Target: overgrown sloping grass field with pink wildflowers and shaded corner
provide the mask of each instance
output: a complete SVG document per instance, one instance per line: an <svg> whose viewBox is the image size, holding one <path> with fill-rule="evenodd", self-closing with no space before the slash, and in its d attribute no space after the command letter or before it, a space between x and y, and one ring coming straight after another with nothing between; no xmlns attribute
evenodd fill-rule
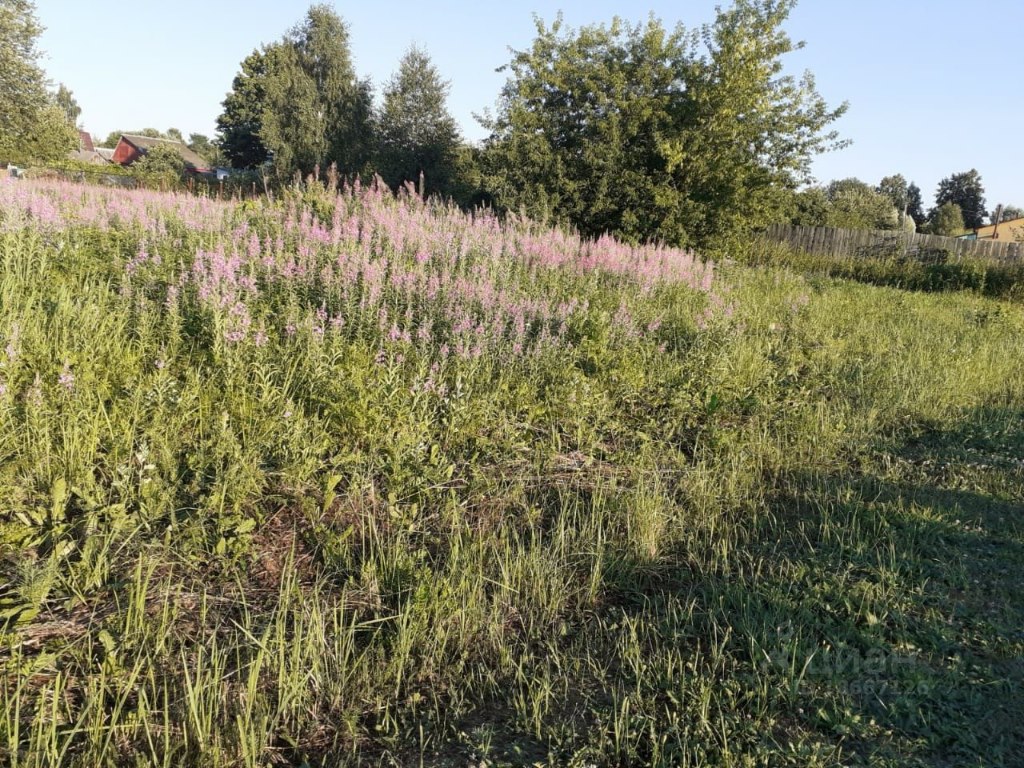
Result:
<svg viewBox="0 0 1024 768"><path fill-rule="evenodd" d="M1012 766L1024 308L0 183L0 763Z"/></svg>

